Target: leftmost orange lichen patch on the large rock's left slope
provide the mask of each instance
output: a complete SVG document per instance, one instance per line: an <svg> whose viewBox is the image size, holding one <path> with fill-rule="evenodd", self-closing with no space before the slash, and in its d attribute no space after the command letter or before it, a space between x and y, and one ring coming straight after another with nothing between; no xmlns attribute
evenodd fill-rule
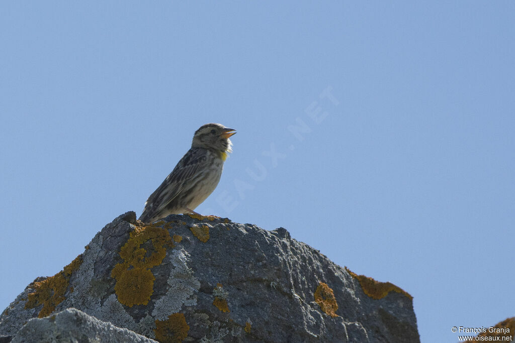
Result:
<svg viewBox="0 0 515 343"><path fill-rule="evenodd" d="M70 284L70 277L79 268L81 263L82 255L79 255L72 263L65 266L61 272L43 281L34 282L32 287L35 290L29 293L25 309L33 309L42 304L43 308L38 313L39 318L46 317L54 312L56 306L65 299L64 294Z"/></svg>

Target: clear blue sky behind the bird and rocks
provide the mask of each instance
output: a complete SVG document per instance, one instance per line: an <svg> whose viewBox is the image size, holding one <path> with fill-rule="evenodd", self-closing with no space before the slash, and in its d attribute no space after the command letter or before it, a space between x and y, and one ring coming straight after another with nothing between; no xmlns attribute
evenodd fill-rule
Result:
<svg viewBox="0 0 515 343"><path fill-rule="evenodd" d="M3 2L0 311L139 215L200 125L197 210L414 296L422 342L515 315L515 3Z"/></svg>

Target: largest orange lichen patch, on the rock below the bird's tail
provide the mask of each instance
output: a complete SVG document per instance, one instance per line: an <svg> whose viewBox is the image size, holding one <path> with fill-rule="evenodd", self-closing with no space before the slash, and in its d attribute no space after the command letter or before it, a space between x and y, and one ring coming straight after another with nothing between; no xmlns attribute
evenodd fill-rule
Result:
<svg viewBox="0 0 515 343"><path fill-rule="evenodd" d="M124 262L111 271L111 277L116 279L114 291L118 301L126 306L148 303L156 280L150 268L161 264L166 248L174 247L168 230L157 226L159 223L164 222L135 226L119 252Z"/></svg>

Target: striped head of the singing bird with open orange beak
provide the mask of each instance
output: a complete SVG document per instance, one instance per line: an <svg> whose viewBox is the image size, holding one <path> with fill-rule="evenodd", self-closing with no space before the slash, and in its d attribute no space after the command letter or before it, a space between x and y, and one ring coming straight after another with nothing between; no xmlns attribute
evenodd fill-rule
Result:
<svg viewBox="0 0 515 343"><path fill-rule="evenodd" d="M232 152L232 142L229 137L236 133L234 131L222 124L202 125L193 136L192 148L216 150L226 156L227 153Z"/></svg>

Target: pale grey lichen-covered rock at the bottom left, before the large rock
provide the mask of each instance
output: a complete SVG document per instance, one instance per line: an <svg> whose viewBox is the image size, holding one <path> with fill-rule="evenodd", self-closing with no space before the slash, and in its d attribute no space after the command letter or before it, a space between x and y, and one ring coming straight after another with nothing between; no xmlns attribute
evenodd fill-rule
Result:
<svg viewBox="0 0 515 343"><path fill-rule="evenodd" d="M156 342L127 329L100 321L77 309L56 315L32 318L18 331L11 343L31 342Z"/></svg>

